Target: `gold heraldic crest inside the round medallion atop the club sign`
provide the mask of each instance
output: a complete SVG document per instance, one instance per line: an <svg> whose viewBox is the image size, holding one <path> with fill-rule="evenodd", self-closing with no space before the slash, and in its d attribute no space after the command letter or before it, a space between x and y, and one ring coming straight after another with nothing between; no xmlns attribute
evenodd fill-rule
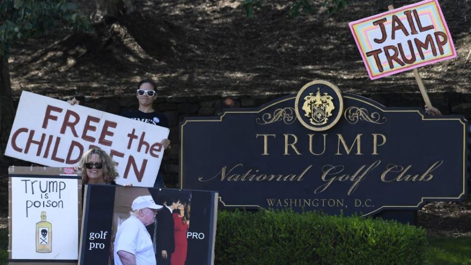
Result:
<svg viewBox="0 0 471 265"><path fill-rule="evenodd" d="M324 93L323 96L320 94L320 88L317 88L317 93L309 93L309 96L304 97L304 104L302 109L304 110L304 116L309 118L311 124L324 125L329 121L329 117L332 116L332 110L335 109L334 98L328 93Z"/></svg>

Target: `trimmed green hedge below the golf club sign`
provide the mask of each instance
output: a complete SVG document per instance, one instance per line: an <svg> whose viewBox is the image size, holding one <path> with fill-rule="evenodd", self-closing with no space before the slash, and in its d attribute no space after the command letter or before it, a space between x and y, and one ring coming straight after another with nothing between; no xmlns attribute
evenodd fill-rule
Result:
<svg viewBox="0 0 471 265"><path fill-rule="evenodd" d="M422 264L425 230L315 212L218 214L216 264Z"/></svg>

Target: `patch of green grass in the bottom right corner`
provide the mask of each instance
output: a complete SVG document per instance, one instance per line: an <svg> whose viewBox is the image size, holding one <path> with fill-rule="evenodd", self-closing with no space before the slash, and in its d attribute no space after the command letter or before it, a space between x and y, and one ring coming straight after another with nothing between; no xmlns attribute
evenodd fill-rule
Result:
<svg viewBox="0 0 471 265"><path fill-rule="evenodd" d="M471 265L471 238L429 238L426 264Z"/></svg>

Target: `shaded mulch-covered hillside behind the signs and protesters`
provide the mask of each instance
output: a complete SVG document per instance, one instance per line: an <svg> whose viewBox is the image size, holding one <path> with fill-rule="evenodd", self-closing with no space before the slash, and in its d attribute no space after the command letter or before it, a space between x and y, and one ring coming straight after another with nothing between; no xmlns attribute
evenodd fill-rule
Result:
<svg viewBox="0 0 471 265"><path fill-rule="evenodd" d="M252 18L243 0L134 0L108 14L104 0L75 0L92 17L92 33L59 25L12 46L13 101L21 91L65 99L129 96L142 78L163 97L279 95L325 79L344 92L387 106L423 106L412 71L370 80L348 23L415 0L352 0L335 13L322 0L311 14L289 16L290 1L266 0ZM432 103L471 117L471 1L441 0L457 58L419 69ZM5 104L5 102L0 102ZM0 221L7 224L7 166L0 163ZM26 164L26 163L25 163ZM431 235L470 236L471 202L432 203L419 211Z"/></svg>

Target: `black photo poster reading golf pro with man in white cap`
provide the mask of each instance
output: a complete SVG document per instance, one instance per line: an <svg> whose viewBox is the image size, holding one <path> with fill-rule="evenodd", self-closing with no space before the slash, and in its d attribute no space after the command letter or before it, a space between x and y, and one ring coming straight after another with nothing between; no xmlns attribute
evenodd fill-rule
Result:
<svg viewBox="0 0 471 265"><path fill-rule="evenodd" d="M213 264L217 192L87 185L84 197L80 265L118 264L116 252L123 249L140 264L153 264L147 258L152 260L156 252L160 256L161 249L166 249L172 264ZM157 211L157 222L148 212L149 203L163 206ZM133 205L137 208L132 209ZM177 209L172 212L165 205ZM133 210L137 216L131 216ZM139 253L133 245L140 246Z"/></svg>

